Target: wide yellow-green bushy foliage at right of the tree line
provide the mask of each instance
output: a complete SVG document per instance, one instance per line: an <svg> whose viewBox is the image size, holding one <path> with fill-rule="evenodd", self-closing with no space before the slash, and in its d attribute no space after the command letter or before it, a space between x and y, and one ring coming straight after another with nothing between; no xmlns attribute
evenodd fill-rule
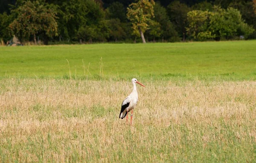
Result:
<svg viewBox="0 0 256 163"><path fill-rule="evenodd" d="M220 40L221 37L228 39L237 35L248 37L253 33L253 28L244 23L238 10L224 10L217 6L214 9L212 12L194 10L188 13L187 31L195 40Z"/></svg>

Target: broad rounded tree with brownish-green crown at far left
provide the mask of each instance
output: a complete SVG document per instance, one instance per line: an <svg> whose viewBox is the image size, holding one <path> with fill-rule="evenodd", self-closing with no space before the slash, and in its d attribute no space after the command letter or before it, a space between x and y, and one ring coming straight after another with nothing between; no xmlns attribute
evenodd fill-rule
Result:
<svg viewBox="0 0 256 163"><path fill-rule="evenodd" d="M44 44L48 44L47 37L57 36L56 11L54 6L39 2L38 0L31 2L25 1L22 6L12 10L17 14L15 20L10 24L13 34L15 34L20 42L23 38L34 36L43 32L45 36Z"/></svg>

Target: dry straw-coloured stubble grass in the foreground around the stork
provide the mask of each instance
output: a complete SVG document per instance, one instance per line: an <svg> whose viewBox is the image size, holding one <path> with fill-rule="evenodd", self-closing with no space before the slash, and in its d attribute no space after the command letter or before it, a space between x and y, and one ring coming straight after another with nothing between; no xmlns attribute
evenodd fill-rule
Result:
<svg viewBox="0 0 256 163"><path fill-rule="evenodd" d="M256 82L0 80L1 162L252 162Z"/></svg>

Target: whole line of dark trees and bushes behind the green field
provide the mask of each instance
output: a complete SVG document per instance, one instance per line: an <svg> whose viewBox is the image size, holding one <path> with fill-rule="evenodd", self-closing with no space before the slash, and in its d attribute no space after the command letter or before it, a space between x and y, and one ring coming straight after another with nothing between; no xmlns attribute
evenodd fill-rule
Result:
<svg viewBox="0 0 256 163"><path fill-rule="evenodd" d="M256 0L1 0L0 39L51 43L256 38Z"/></svg>

